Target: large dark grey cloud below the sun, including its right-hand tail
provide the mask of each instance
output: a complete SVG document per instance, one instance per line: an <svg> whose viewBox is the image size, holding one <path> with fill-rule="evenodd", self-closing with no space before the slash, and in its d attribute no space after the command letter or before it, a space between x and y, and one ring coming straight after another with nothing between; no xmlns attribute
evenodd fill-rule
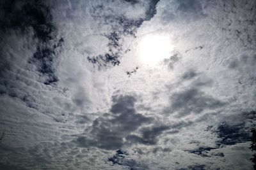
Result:
<svg viewBox="0 0 256 170"><path fill-rule="evenodd" d="M191 125L192 122L177 122L172 125L152 125L141 127L143 124L152 122L151 117L145 117L136 113L134 104L136 98L133 96L113 96L111 114L94 120L90 134L93 140L87 137L79 137L77 143L83 147L95 146L106 150L121 148L126 143L141 143L143 145L156 145L158 137L170 129L167 133L177 133L178 129ZM131 132L140 129L140 136ZM94 141L95 140L95 141Z"/></svg>

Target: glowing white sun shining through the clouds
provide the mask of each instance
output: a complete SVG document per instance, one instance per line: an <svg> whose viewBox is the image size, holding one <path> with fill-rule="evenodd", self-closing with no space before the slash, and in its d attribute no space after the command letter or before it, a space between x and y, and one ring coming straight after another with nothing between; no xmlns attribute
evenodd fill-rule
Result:
<svg viewBox="0 0 256 170"><path fill-rule="evenodd" d="M142 64L156 66L161 60L170 57L172 45L166 36L148 34L138 44L138 53Z"/></svg>

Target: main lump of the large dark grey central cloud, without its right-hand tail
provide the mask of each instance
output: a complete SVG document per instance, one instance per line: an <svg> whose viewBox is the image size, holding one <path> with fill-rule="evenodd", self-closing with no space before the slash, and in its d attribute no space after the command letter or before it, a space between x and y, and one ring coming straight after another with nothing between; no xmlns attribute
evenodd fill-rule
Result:
<svg viewBox="0 0 256 170"><path fill-rule="evenodd" d="M124 138L152 120L136 113L135 102L133 96L113 96L111 113L93 121L90 131L93 139L79 137L76 142L83 147L95 146L106 150L121 148L125 143Z"/></svg>

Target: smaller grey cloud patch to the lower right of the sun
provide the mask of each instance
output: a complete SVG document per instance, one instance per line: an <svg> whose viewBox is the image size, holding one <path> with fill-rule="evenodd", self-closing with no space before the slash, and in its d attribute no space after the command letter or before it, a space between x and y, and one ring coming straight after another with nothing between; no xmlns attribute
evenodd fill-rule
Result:
<svg viewBox="0 0 256 170"><path fill-rule="evenodd" d="M192 80L189 87L184 88L185 90L174 92L169 97L170 106L164 109L164 113L177 113L177 117L184 117L191 113L199 114L207 110L216 110L226 104L200 90L202 87L212 84L212 80L209 80L204 74L197 73L195 69L188 69L181 76L179 84L183 84L188 80Z"/></svg>

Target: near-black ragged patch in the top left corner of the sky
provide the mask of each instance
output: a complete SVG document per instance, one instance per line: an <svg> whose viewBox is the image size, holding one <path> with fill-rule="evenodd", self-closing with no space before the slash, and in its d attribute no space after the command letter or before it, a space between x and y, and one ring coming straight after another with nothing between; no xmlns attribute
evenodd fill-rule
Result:
<svg viewBox="0 0 256 170"><path fill-rule="evenodd" d="M1 32L29 36L34 32L36 52L28 60L35 65L38 75L46 85L58 81L56 76L56 58L60 53L63 38L58 38L58 30L52 21L51 6L41 1L1 1ZM21 47L21 46L20 46ZM29 48L29 47L28 47ZM6 59L6 52L1 52L1 57ZM6 66L12 63L6 64ZM55 65L55 66L54 66ZM3 66L3 67L6 67ZM0 68L0 71L4 68Z"/></svg>

